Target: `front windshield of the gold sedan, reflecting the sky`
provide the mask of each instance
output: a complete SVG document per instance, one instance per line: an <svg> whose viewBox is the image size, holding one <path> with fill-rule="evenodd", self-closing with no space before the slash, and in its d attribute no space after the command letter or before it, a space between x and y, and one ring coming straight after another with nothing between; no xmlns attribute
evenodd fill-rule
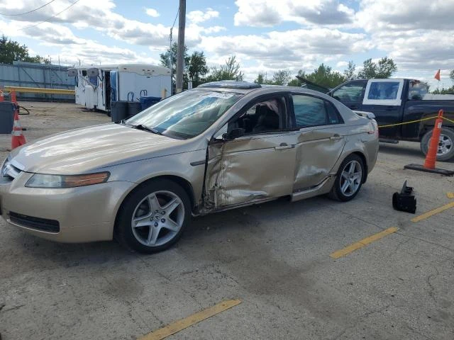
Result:
<svg viewBox="0 0 454 340"><path fill-rule="evenodd" d="M151 106L126 120L162 135L192 138L211 126L242 94L216 91L185 91Z"/></svg>

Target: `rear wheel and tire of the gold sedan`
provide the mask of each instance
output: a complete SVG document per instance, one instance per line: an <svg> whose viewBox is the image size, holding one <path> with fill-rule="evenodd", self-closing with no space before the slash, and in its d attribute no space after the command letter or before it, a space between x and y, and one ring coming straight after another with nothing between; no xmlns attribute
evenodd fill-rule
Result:
<svg viewBox="0 0 454 340"><path fill-rule="evenodd" d="M343 202L352 200L360 191L364 174L362 159L356 154L350 154L339 167L336 181L328 196Z"/></svg>

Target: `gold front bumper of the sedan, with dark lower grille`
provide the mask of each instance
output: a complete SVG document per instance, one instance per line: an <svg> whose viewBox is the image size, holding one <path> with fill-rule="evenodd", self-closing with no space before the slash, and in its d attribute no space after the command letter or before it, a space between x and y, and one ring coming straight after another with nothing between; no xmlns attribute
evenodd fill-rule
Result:
<svg viewBox="0 0 454 340"><path fill-rule="evenodd" d="M79 188L26 188L31 176L21 172L13 181L0 178L1 217L9 225L57 242L112 239L116 212L135 186L112 181Z"/></svg>

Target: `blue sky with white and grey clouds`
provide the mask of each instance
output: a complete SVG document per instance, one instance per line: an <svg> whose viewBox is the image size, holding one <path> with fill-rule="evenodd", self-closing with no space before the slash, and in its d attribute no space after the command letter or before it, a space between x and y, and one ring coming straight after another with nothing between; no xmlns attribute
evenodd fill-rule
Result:
<svg viewBox="0 0 454 340"><path fill-rule="evenodd" d="M62 64L158 64L178 0L0 0L1 33ZM211 66L236 55L246 80L321 62L392 57L394 77L441 85L454 69L454 0L188 0L186 44ZM6 15L5 15L6 14ZM178 21L173 30L177 40Z"/></svg>

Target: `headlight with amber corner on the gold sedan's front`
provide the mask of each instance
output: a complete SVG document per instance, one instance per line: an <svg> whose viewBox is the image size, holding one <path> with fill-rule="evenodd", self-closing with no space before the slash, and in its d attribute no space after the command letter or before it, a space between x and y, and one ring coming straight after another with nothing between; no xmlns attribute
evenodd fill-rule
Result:
<svg viewBox="0 0 454 340"><path fill-rule="evenodd" d="M97 172L86 175L46 175L34 174L26 183L28 188L75 188L104 183L109 179L109 172Z"/></svg>

